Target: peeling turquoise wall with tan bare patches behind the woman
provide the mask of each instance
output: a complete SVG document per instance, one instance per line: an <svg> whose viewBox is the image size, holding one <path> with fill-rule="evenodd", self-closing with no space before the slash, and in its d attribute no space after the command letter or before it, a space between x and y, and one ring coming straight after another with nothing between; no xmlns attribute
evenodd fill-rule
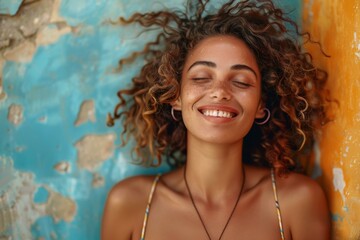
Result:
<svg viewBox="0 0 360 240"><path fill-rule="evenodd" d="M183 0L0 0L0 239L99 239L112 185L169 170L130 164L105 124L136 70L118 59L151 39L108 20L162 6Z"/></svg>

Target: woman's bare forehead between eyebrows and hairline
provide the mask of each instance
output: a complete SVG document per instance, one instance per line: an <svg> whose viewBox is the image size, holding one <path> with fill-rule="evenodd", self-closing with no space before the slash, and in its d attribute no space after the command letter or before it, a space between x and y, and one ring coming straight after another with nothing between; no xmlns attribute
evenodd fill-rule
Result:
<svg viewBox="0 0 360 240"><path fill-rule="evenodd" d="M228 35L211 36L201 40L188 53L184 69L195 61L212 61L223 67L245 64L259 71L256 57L246 43Z"/></svg>

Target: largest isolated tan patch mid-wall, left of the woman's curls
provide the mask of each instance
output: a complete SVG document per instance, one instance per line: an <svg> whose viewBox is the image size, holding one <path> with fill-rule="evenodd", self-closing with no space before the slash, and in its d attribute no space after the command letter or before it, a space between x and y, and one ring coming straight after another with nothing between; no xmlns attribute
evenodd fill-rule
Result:
<svg viewBox="0 0 360 240"><path fill-rule="evenodd" d="M87 135L75 143L79 168L94 171L114 154L115 134Z"/></svg>

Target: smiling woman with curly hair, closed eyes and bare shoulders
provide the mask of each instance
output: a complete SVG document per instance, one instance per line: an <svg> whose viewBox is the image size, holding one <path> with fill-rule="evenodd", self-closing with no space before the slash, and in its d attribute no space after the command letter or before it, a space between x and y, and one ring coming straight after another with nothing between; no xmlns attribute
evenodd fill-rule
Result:
<svg viewBox="0 0 360 240"><path fill-rule="evenodd" d="M323 191L295 173L326 121L327 76L285 24L310 38L270 0L210 9L121 19L162 31L109 122L142 163L174 170L114 186L102 239L329 239Z"/></svg>

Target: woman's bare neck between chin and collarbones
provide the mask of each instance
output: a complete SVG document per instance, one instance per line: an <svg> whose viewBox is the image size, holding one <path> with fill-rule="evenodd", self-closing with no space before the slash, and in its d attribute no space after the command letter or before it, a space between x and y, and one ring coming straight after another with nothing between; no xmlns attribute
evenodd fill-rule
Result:
<svg viewBox="0 0 360 240"><path fill-rule="evenodd" d="M219 202L239 192L243 182L242 142L221 145L191 138L187 149L186 177L197 197Z"/></svg>

